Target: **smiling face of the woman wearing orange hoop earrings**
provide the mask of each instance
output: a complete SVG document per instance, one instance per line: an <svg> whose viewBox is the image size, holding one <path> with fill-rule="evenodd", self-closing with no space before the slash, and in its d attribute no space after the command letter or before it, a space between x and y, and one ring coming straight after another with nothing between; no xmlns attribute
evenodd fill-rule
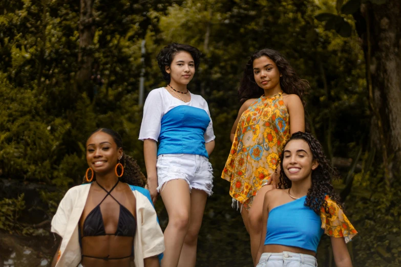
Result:
<svg viewBox="0 0 401 267"><path fill-rule="evenodd" d="M95 132L87 141L87 162L95 173L114 172L122 148L117 148L113 138L103 131Z"/></svg>

